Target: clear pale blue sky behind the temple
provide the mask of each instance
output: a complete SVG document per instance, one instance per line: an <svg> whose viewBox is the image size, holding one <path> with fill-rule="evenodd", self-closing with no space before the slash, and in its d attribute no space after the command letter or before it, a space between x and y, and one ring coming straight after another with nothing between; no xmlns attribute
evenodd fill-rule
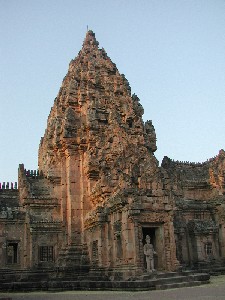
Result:
<svg viewBox="0 0 225 300"><path fill-rule="evenodd" d="M225 149L224 0L0 0L0 182L38 168L47 117L87 26L152 120L156 158Z"/></svg>

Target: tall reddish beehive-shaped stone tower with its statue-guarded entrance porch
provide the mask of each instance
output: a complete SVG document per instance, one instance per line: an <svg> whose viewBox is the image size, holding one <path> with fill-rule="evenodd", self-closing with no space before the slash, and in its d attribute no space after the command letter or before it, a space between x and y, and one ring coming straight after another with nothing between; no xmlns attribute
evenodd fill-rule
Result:
<svg viewBox="0 0 225 300"><path fill-rule="evenodd" d="M158 268L176 267L173 200L154 156L154 127L143 122L143 112L125 76L88 31L40 142L42 177L30 183L30 190L38 186L40 194L42 186L57 203L45 215L61 224L52 233L59 268L139 274L146 234L163 252ZM40 210L32 214L40 219ZM34 243L44 236L37 231Z"/></svg>

